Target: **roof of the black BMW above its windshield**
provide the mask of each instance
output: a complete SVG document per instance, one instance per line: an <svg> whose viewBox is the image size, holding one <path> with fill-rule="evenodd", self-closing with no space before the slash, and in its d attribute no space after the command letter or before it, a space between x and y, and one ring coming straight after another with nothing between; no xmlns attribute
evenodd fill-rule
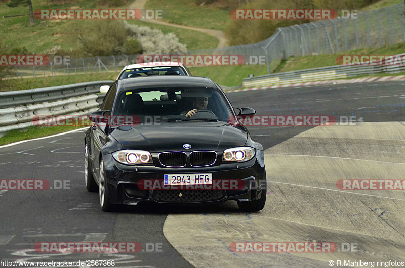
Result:
<svg viewBox="0 0 405 268"><path fill-rule="evenodd" d="M145 87L209 87L219 88L213 80L198 76L147 76L117 80L118 91ZM117 92L118 93L118 92Z"/></svg>

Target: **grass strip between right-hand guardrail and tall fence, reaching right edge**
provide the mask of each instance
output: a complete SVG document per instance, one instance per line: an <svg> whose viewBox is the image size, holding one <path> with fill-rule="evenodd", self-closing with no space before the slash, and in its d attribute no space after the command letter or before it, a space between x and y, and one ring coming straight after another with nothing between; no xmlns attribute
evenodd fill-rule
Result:
<svg viewBox="0 0 405 268"><path fill-rule="evenodd" d="M279 72L289 72L338 65L336 58L339 55L395 55L404 52L405 43L400 43L392 47L357 49L338 54L309 55L305 57L294 56L290 57L288 62L281 62L281 65L284 66L277 70Z"/></svg>

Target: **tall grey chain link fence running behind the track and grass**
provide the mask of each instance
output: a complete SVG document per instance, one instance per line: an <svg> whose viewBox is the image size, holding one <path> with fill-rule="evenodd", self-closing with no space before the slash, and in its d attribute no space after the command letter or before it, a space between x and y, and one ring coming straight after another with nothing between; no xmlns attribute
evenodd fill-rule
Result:
<svg viewBox="0 0 405 268"><path fill-rule="evenodd" d="M272 61L297 55L338 53L365 47L392 46L405 42L405 5L395 4L378 10L358 12L357 18L333 19L278 28L266 40L255 44L217 49L189 51L191 55L265 56L267 66ZM139 55L93 58L70 58L69 64L46 66L15 66L10 78L54 76L77 73L118 72L128 64L137 63ZM270 69L268 67L268 72Z"/></svg>

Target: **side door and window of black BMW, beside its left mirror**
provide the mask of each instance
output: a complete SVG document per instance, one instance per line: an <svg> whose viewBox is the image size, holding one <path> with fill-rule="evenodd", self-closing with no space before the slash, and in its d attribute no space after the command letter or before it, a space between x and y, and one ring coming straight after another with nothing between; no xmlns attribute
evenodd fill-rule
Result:
<svg viewBox="0 0 405 268"><path fill-rule="evenodd" d="M104 102L100 107L101 111L108 111L105 115L109 116L111 109L112 109L112 105L114 103L114 99L115 99L115 94L116 94L116 90L117 90L117 85L116 83L114 83L113 85L111 85L111 88L109 89L109 91L107 92L107 95L105 96ZM103 147L103 145L106 143L107 140L107 131L108 131L108 125L105 124L92 124L91 127L91 132L92 132L92 137L93 137L93 155L92 155L92 159L94 161L94 167L95 167L95 171L96 171L96 178L98 181L98 174L100 172L100 152L101 152L101 147Z"/></svg>

